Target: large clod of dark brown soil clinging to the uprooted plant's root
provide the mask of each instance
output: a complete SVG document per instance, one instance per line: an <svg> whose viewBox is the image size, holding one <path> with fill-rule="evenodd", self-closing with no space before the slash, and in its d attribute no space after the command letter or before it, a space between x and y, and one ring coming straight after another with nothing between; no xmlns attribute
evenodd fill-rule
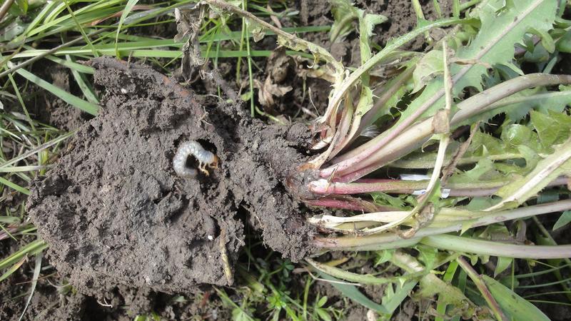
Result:
<svg viewBox="0 0 571 321"><path fill-rule="evenodd" d="M231 285L247 222L291 260L313 250L313 230L282 183L306 158L292 135L299 126L265 126L237 105L201 106L148 66L114 58L91 66L106 88L100 115L31 182L28 202L50 262L79 292ZM190 140L220 158L210 175L174 172L173 156ZM198 168L192 157L187 165Z"/></svg>

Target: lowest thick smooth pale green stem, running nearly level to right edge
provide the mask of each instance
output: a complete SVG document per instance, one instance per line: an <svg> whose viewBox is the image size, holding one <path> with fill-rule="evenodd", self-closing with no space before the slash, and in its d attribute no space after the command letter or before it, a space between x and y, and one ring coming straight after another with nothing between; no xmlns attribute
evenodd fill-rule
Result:
<svg viewBox="0 0 571 321"><path fill-rule="evenodd" d="M477 240L456 235L433 235L420 243L441 250L501 256L504 258L557 259L571 258L571 245L515 245L490 240Z"/></svg>

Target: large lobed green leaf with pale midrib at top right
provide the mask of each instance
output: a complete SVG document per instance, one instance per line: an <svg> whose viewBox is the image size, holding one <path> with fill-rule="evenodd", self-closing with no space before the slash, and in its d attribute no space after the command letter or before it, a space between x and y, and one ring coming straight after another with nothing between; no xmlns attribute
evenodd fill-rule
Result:
<svg viewBox="0 0 571 321"><path fill-rule="evenodd" d="M453 93L458 95L466 87L482 89L482 76L487 74L486 66L505 64L514 56L514 45L522 41L531 28L548 31L555 20L556 1L520 0L517 5L504 1L490 0L481 6L478 15L482 26L470 45L458 49L455 58L476 63L467 66L451 66L455 85ZM502 10L500 10L502 9ZM430 81L423 93L403 111L399 123L409 118L419 108L428 107L423 116L432 116L444 107L443 80L438 77Z"/></svg>

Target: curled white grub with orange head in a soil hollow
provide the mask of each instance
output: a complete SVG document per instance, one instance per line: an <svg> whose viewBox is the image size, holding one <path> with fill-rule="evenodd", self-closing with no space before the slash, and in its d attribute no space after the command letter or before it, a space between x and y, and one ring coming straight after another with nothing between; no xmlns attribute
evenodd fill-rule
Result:
<svg viewBox="0 0 571 321"><path fill-rule="evenodd" d="M198 170L208 175L206 165L211 168L218 168L218 157L213 153L206 151L197 141L186 141L178 147L173 157L173 168L176 175L183 178L195 178L198 172L195 168L186 167L186 158L194 156L198 161Z"/></svg>

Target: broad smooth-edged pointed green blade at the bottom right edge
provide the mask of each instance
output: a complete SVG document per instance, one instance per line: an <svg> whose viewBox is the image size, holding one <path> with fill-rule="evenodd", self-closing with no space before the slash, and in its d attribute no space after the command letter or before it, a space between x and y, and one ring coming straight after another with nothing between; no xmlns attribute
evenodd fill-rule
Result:
<svg viewBox="0 0 571 321"><path fill-rule="evenodd" d="M535 305L532 305L500 282L492 279L492 277L482 275L482 279L508 318L511 317L512 320L550 320Z"/></svg>

